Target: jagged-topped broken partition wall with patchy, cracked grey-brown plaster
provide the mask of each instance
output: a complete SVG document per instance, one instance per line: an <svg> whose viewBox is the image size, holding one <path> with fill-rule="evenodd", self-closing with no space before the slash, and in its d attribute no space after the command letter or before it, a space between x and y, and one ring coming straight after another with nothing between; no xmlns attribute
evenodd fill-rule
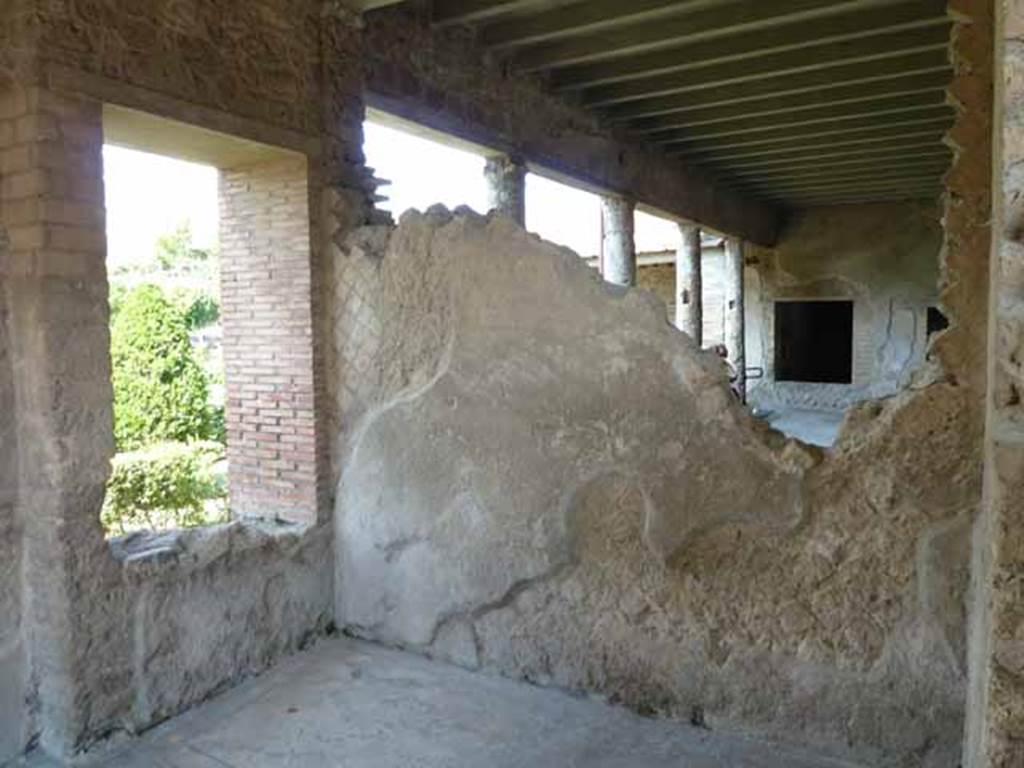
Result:
<svg viewBox="0 0 1024 768"><path fill-rule="evenodd" d="M345 259L379 335L346 425L340 623L871 765L955 760L964 388L862 407L822 456L767 434L660 302L505 219L407 215Z"/></svg>

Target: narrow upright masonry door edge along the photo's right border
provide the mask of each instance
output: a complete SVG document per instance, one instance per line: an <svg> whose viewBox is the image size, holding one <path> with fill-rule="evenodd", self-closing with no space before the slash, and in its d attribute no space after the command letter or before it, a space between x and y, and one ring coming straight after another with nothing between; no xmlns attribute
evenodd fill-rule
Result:
<svg viewBox="0 0 1024 768"><path fill-rule="evenodd" d="M964 764L1024 764L1024 4L999 4L985 506L975 530ZM998 195L1001 193L1001 197Z"/></svg>

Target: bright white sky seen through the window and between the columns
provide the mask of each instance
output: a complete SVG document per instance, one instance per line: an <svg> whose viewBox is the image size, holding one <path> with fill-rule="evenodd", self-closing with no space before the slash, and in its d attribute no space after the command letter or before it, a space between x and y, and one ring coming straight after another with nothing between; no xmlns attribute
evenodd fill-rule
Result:
<svg viewBox="0 0 1024 768"><path fill-rule="evenodd" d="M381 207L396 217L409 208L426 210L436 203L486 211L483 157L372 122L365 133L367 164L379 178L393 182L380 189L389 198ZM216 246L215 168L112 145L103 147L103 167L112 267L148 260L157 239L182 221L191 223L197 247ZM530 173L526 228L581 255L596 256L601 247L600 199ZM640 252L674 249L677 231L672 221L637 213Z"/></svg>

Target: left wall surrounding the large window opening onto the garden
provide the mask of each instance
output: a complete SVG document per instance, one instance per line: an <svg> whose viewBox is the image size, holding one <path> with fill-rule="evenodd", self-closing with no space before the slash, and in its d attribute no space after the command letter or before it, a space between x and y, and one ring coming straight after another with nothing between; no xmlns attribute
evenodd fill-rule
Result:
<svg viewBox="0 0 1024 768"><path fill-rule="evenodd" d="M103 540L113 439L102 102L307 156L317 399L329 391L321 238L364 220L372 187L361 168L360 35L330 4L18 0L0 8L8 33L17 45L0 46L0 82L12 76L18 99L16 131L0 130L14 142L0 148L9 245L0 259L9 355L0 360L14 371L15 403L3 413L15 414L16 440L4 439L2 459L18 468L30 685L24 695L4 685L0 760L32 744L66 755L159 722L301 647L333 612L328 493L309 526L252 521ZM0 510L9 488L0 486ZM17 541L7 532L4 546ZM28 721L7 718L7 696L26 702Z"/></svg>

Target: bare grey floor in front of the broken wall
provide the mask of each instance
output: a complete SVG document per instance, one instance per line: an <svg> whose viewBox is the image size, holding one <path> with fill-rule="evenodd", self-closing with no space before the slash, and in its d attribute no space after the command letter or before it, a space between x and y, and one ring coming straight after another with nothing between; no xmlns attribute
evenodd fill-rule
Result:
<svg viewBox="0 0 1024 768"><path fill-rule="evenodd" d="M341 638L76 765L851 768Z"/></svg>

